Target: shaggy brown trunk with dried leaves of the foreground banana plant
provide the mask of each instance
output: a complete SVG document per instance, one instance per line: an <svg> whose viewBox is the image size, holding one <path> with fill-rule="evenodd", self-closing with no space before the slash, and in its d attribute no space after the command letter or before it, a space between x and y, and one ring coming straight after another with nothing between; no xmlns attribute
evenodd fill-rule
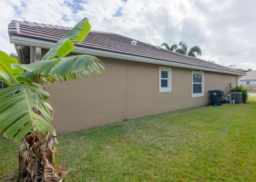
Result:
<svg viewBox="0 0 256 182"><path fill-rule="evenodd" d="M26 136L19 147L18 181L62 181L66 177L69 171L55 162L56 137L55 131L50 134L37 130Z"/></svg>

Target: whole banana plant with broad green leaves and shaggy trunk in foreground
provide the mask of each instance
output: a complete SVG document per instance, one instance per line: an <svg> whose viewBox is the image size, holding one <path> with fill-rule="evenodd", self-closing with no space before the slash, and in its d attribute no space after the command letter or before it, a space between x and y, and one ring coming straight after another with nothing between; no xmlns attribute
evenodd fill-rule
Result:
<svg viewBox="0 0 256 182"><path fill-rule="evenodd" d="M101 73L101 61L90 55L67 56L82 43L91 29L87 18L81 20L44 55L41 61L18 64L0 51L0 80L9 85L0 89L0 132L23 141L19 147L21 181L60 181L68 173L55 163L56 139L52 107L45 102L50 94L44 83L66 81Z"/></svg>

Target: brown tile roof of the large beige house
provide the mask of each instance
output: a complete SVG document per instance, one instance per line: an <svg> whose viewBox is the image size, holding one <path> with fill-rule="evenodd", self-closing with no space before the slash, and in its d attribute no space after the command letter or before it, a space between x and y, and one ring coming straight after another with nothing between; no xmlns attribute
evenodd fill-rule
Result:
<svg viewBox="0 0 256 182"><path fill-rule="evenodd" d="M53 26L50 24L17 20L12 20L12 22L9 23L8 28L10 37L27 37L39 40L46 40L49 42L57 42L71 29L69 27ZM186 56L172 51L167 51L163 48L157 48L156 46L140 42L139 40L137 40L137 45L134 46L131 45L132 40L135 39L111 32L91 30L91 32L84 39L82 44L75 43L75 45L86 48L99 49L103 51L147 57L150 59L156 59L161 61L195 65L199 67L235 72L240 74L243 73L241 71L227 68L219 64L211 63L209 61Z"/></svg>

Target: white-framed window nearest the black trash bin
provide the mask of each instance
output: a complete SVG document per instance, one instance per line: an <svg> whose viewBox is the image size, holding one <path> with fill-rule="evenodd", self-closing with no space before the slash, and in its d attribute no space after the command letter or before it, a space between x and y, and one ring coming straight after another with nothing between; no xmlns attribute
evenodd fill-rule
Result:
<svg viewBox="0 0 256 182"><path fill-rule="evenodd" d="M204 96L204 72L192 71L192 97Z"/></svg>

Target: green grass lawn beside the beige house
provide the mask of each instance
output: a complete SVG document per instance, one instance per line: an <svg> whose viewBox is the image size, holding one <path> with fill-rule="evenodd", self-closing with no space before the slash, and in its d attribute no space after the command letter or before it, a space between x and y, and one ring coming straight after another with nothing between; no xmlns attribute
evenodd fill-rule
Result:
<svg viewBox="0 0 256 182"><path fill-rule="evenodd" d="M256 98L59 135L65 181L256 181ZM0 181L18 144L0 139Z"/></svg>

